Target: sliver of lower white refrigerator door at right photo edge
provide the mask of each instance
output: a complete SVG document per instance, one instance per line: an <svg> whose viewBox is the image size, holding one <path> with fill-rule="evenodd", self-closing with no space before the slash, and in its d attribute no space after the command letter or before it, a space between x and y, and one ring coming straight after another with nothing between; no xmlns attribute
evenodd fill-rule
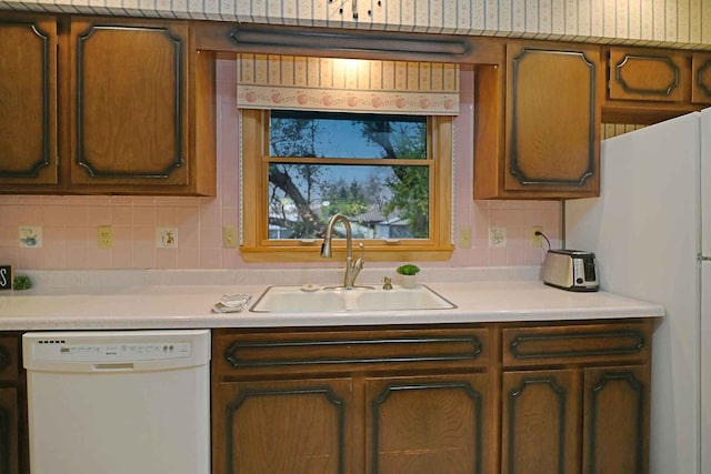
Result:
<svg viewBox="0 0 711 474"><path fill-rule="evenodd" d="M711 473L711 261L701 263L701 473Z"/></svg>

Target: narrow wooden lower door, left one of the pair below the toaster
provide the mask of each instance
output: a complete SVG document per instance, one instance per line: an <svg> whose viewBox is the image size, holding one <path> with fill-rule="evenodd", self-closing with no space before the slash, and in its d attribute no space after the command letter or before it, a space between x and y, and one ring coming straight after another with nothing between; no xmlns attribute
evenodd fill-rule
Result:
<svg viewBox="0 0 711 474"><path fill-rule="evenodd" d="M573 371L503 374L502 473L580 472L579 394Z"/></svg>

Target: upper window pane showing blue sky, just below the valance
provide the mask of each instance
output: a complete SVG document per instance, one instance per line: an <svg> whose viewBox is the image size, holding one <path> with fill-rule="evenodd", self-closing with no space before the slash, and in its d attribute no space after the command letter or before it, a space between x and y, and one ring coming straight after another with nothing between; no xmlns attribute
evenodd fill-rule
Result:
<svg viewBox="0 0 711 474"><path fill-rule="evenodd" d="M272 110L269 130L276 158L427 158L425 117Z"/></svg>

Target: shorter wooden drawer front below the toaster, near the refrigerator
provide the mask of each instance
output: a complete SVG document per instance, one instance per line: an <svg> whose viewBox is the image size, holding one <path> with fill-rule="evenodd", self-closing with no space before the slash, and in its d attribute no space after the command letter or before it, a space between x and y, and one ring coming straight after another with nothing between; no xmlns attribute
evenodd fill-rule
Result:
<svg viewBox="0 0 711 474"><path fill-rule="evenodd" d="M642 362L650 356L651 322L550 327L509 327L502 332L504 366L588 362Z"/></svg>

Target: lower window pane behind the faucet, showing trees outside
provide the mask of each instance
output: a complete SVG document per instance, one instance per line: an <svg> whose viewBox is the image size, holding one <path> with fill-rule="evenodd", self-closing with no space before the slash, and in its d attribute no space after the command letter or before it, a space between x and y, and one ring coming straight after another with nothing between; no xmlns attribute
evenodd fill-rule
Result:
<svg viewBox="0 0 711 474"><path fill-rule="evenodd" d="M428 239L429 199L428 167L271 163L269 238L320 239L340 212L357 239Z"/></svg>

